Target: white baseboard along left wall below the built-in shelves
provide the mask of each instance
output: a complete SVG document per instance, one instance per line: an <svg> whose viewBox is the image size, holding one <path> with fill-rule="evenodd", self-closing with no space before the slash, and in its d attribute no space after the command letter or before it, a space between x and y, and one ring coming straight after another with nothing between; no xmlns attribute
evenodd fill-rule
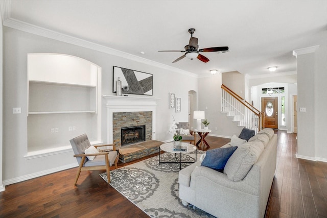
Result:
<svg viewBox="0 0 327 218"><path fill-rule="evenodd" d="M52 169L46 169L45 171L40 171L40 172L25 175L25 176L19 176L19 177L13 178L13 179L4 180L3 184L6 186L6 185L14 184L14 183L17 183L17 182L22 182L22 181L25 181L25 180L34 179L36 177L56 173L56 172L63 171L65 169L70 169L70 168L77 167L77 166L78 166L77 163L72 163L72 164L59 166L59 167L52 168Z"/></svg>

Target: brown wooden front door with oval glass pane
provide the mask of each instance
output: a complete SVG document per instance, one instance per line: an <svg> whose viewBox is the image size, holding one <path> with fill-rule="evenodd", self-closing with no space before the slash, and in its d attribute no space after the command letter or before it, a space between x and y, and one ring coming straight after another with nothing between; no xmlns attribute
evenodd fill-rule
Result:
<svg viewBox="0 0 327 218"><path fill-rule="evenodd" d="M265 113L265 128L278 129L278 97L261 98L261 111Z"/></svg>

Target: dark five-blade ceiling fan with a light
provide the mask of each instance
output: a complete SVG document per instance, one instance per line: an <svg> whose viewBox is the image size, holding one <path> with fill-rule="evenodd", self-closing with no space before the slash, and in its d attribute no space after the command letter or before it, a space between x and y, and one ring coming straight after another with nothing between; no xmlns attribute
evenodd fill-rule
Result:
<svg viewBox="0 0 327 218"><path fill-rule="evenodd" d="M200 52L222 52L222 51L227 51L228 47L223 46L223 47L207 47L206 49L199 49L198 45L198 38L193 37L193 33L195 32L194 28L189 29L189 33L191 34L190 42L188 45L185 45L184 49L185 51L179 51L179 50L170 50L170 51L158 51L158 52L185 52L184 55L181 57L177 58L176 60L173 61L173 63L176 63L177 61L187 57L191 60L194 58L199 59L200 61L203 61L204 63L208 62L209 59L206 58L205 56L201 55Z"/></svg>

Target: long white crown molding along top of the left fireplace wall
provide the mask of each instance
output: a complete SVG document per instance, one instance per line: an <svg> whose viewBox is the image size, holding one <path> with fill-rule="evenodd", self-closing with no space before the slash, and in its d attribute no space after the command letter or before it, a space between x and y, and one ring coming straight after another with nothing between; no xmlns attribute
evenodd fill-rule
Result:
<svg viewBox="0 0 327 218"><path fill-rule="evenodd" d="M52 30L42 28L42 27L39 27L36 25L32 25L31 23L28 23L28 22L10 18L10 1L9 0L0 1L0 7L1 7L1 14L2 14L2 18L3 18L3 25L5 27L13 28L16 30L24 31L24 32L31 33L31 34L38 35L38 36L43 36L43 37L50 38L50 39L55 39L58 41L69 43L69 44L74 44L77 46L85 47L86 49L103 52L103 53L106 53L109 55L126 58L126 59L129 59L132 61L148 64L148 65L159 67L162 69L174 71L179 74L186 75L186 76L198 78L198 75L196 75L192 72L189 72L189 71L181 70L181 69L178 69L178 68L166 65L166 64L161 64L161 63L158 63L158 62L146 59L146 58L138 57L136 55L131 55L131 54L119 51L119 50L111 49L110 47L103 46L103 45L100 45L100 44L97 44L94 42L90 42L90 41L87 41L84 39L80 39L77 37L62 34L62 33L56 32L56 31L52 31Z"/></svg>

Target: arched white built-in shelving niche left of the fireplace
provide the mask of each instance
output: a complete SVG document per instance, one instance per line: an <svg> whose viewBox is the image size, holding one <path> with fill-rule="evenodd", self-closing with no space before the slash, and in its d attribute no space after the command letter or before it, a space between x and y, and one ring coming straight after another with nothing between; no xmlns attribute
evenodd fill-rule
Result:
<svg viewBox="0 0 327 218"><path fill-rule="evenodd" d="M28 54L29 157L69 151L86 133L101 142L101 67L63 54Z"/></svg>

